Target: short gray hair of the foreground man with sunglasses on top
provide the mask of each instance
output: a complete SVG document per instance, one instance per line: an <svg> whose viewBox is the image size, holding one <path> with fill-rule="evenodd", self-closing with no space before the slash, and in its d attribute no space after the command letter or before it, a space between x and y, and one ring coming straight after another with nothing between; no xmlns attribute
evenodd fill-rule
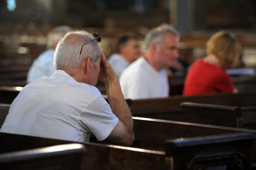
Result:
<svg viewBox="0 0 256 170"><path fill-rule="evenodd" d="M70 34L73 35L70 36ZM57 45L54 54L55 70L71 69L74 71L75 69L79 69L81 68L83 61L89 56L93 58L93 62L96 62L101 55L101 48L97 41L91 41L93 39L94 37L84 30L68 32L61 38ZM83 46L83 44L85 45ZM83 49L80 54L82 46Z"/></svg>

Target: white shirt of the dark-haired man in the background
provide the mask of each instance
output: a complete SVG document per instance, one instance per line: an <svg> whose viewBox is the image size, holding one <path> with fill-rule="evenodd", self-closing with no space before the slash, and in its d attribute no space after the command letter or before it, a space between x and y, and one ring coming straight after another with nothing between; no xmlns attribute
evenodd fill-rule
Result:
<svg viewBox="0 0 256 170"><path fill-rule="evenodd" d="M122 55L115 53L108 58L117 77L120 77L124 69L130 64Z"/></svg>

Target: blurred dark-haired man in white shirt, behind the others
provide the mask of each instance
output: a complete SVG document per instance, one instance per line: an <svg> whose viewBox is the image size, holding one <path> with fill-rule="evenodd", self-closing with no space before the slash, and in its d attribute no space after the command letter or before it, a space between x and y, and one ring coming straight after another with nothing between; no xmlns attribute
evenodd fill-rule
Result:
<svg viewBox="0 0 256 170"><path fill-rule="evenodd" d="M125 33L118 36L115 53L108 58L108 62L119 77L130 63L141 57L141 54L139 37Z"/></svg>

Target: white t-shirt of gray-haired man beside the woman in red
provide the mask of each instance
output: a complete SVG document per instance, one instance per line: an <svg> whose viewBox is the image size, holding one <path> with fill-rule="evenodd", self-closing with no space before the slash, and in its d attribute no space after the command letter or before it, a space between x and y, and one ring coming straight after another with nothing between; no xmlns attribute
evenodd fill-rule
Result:
<svg viewBox="0 0 256 170"><path fill-rule="evenodd" d="M130 99L169 96L168 76L165 69L156 71L144 57L131 63L121 74L119 81L124 97Z"/></svg>

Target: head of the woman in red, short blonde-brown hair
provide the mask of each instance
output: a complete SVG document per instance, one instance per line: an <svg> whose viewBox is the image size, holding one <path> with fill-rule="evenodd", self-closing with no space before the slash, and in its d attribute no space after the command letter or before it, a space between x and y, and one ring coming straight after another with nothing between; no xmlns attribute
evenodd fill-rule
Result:
<svg viewBox="0 0 256 170"><path fill-rule="evenodd" d="M219 31L211 36L206 44L207 55L214 54L222 68L236 66L241 55L241 45L236 37L227 32Z"/></svg>

